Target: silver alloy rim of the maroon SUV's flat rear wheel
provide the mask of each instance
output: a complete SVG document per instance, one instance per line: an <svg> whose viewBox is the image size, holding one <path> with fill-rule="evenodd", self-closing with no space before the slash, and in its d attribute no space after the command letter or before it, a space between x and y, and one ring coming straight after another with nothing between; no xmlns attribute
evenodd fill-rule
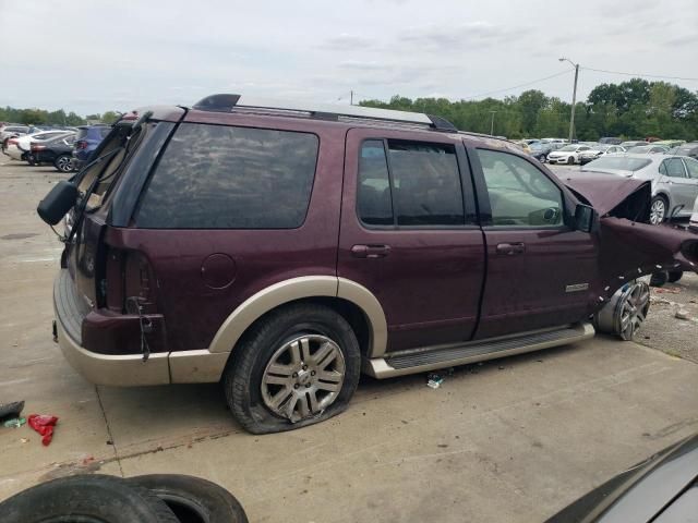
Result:
<svg viewBox="0 0 698 523"><path fill-rule="evenodd" d="M277 349L262 376L262 399L274 414L296 423L332 405L345 380L345 358L325 336L304 335Z"/></svg>

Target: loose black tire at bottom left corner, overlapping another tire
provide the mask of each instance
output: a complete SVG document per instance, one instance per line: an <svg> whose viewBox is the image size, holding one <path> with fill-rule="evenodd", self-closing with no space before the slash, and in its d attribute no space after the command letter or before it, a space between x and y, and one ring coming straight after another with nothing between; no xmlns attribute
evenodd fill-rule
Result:
<svg viewBox="0 0 698 523"><path fill-rule="evenodd" d="M2 523L180 523L165 501L116 476L84 474L28 488L0 503Z"/></svg>

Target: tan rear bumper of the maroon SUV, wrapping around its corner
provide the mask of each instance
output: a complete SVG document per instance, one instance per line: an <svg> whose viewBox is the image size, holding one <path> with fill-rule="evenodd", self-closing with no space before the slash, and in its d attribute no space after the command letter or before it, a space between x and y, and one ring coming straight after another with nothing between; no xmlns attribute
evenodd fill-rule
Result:
<svg viewBox="0 0 698 523"><path fill-rule="evenodd" d="M229 352L208 350L142 354L99 354L85 349L81 328L87 309L75 295L67 269L53 284L53 311L58 344L68 363L95 385L135 387L144 385L215 382L220 379Z"/></svg>

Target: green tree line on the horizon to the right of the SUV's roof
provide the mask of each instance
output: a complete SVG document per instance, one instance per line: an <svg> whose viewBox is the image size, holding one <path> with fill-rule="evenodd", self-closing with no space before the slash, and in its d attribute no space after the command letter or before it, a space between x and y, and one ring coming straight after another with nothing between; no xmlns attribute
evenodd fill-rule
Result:
<svg viewBox="0 0 698 523"><path fill-rule="evenodd" d="M360 105L425 112L445 118L462 131L484 134L492 131L508 138L567 137L571 112L571 104L537 89L503 100L449 101L396 95L387 102L363 100ZM601 84L586 101L575 106L575 137L598 141L602 136L698 139L698 92L641 78Z"/></svg>

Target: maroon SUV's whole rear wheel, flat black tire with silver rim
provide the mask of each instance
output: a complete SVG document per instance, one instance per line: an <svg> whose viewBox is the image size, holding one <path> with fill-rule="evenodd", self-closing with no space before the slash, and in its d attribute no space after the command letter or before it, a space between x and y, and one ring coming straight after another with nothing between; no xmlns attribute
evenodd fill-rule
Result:
<svg viewBox="0 0 698 523"><path fill-rule="evenodd" d="M233 349L224 389L252 434L291 430L342 412L359 382L361 353L347 320L299 303L268 314Z"/></svg>

